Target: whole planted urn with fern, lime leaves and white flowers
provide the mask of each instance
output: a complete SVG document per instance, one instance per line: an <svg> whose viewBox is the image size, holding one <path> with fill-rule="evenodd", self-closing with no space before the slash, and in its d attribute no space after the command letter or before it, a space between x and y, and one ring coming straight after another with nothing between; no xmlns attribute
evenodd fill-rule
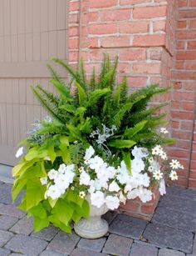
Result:
<svg viewBox="0 0 196 256"><path fill-rule="evenodd" d="M35 231L52 223L70 233L74 222L76 233L98 238L108 230L101 214L127 198L149 201L154 184L164 194L164 177L177 179L175 170L183 168L177 160L170 168L164 164L162 147L174 141L164 137L165 128L158 129L166 113L154 113L166 103L149 107L154 95L169 88L154 84L129 94L126 78L115 83L117 58L112 64L107 55L99 76L93 69L88 80L82 61L74 70L53 60L66 68L71 82L48 65L58 95L32 87L50 117L34 123L17 151L22 157L12 169L12 198L25 191L19 208L34 217Z"/></svg>

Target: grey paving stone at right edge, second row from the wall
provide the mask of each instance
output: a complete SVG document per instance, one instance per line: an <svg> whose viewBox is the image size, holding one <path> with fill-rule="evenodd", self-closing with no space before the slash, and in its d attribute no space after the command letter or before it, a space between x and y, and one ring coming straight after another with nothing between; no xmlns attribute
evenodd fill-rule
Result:
<svg viewBox="0 0 196 256"><path fill-rule="evenodd" d="M159 201L159 206L171 208L183 213L196 213L196 203L191 198L180 198L174 194L166 194Z"/></svg>

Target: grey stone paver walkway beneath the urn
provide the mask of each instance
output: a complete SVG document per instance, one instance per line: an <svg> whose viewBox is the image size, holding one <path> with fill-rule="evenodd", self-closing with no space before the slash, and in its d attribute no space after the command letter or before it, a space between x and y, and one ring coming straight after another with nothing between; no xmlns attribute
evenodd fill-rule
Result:
<svg viewBox="0 0 196 256"><path fill-rule="evenodd" d="M10 191L0 183L0 256L196 256L196 191L168 188L151 222L106 213L110 232L95 240L52 226L33 233L32 219L12 204Z"/></svg>

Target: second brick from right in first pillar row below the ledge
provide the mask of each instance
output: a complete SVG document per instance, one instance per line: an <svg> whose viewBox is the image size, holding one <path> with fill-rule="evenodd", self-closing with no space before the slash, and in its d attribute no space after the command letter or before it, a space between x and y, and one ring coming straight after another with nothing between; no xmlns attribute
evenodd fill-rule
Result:
<svg viewBox="0 0 196 256"><path fill-rule="evenodd" d="M122 49L119 58L120 61L145 60L145 49Z"/></svg>

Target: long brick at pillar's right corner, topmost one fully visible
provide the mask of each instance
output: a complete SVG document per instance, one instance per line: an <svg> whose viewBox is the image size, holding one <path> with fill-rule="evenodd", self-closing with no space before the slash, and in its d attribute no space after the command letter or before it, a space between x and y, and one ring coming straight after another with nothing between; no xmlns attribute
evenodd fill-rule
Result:
<svg viewBox="0 0 196 256"><path fill-rule="evenodd" d="M134 8L134 18L158 18L166 16L166 6Z"/></svg>

